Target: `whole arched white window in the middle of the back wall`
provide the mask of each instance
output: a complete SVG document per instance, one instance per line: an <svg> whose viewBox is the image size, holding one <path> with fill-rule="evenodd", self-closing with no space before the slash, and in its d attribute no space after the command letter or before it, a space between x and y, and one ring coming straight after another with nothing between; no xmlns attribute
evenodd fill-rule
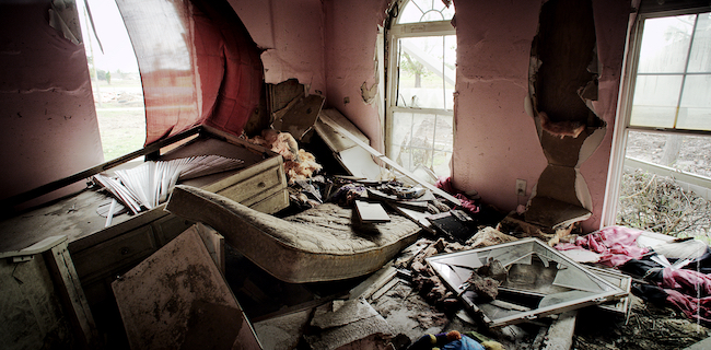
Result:
<svg viewBox="0 0 711 350"><path fill-rule="evenodd" d="M454 131L454 5L398 2L389 31L386 153L409 171L450 175ZM397 8L396 8L397 9Z"/></svg>

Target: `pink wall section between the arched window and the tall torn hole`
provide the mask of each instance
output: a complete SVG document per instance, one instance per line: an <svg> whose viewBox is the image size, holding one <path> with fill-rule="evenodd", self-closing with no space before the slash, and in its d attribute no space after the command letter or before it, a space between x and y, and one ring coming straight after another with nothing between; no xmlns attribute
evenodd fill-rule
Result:
<svg viewBox="0 0 711 350"><path fill-rule="evenodd" d="M540 1L455 1L457 28L454 185L476 189L501 210L527 197L515 194L517 178L531 194L546 167L534 119L524 112L531 44Z"/></svg>

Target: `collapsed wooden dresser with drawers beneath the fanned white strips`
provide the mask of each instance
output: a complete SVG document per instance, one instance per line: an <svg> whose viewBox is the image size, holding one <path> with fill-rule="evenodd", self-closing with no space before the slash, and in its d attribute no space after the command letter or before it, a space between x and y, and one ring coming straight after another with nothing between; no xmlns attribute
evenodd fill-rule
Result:
<svg viewBox="0 0 711 350"><path fill-rule="evenodd" d="M189 137L178 138L175 143L150 152L150 158L173 160L217 154L241 159L244 166L240 168L189 179L185 184L220 194L266 213L275 213L289 206L281 155L209 127L198 128L189 132ZM140 153L137 153L138 156ZM110 175L116 168L140 163L124 162L103 173ZM136 215L116 215L112 224L105 228L106 218L97 213L97 208L110 199L97 188L86 188L0 222L0 253L19 252L51 236L67 236L67 259L75 269L80 284L70 288L83 290L84 303L92 311L88 315L92 317L93 314L100 334L114 331L110 329L116 327L123 331L120 325L112 324L115 322L112 314L115 301L110 282L194 224L164 211L165 205L161 205ZM23 262L8 260L9 270L13 268L11 264ZM5 282L10 281L0 281ZM106 334L101 336L107 337ZM112 338L110 335L108 338Z"/></svg>

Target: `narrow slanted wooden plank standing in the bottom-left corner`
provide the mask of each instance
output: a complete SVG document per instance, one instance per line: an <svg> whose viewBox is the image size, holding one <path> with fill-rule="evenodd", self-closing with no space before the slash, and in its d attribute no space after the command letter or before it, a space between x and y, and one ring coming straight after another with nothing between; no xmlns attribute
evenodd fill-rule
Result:
<svg viewBox="0 0 711 350"><path fill-rule="evenodd" d="M55 285L67 306L75 337L85 348L96 348L98 345L96 325L89 308L84 290L79 281L74 264L69 255L67 242L55 246L43 254L47 268L53 275Z"/></svg>

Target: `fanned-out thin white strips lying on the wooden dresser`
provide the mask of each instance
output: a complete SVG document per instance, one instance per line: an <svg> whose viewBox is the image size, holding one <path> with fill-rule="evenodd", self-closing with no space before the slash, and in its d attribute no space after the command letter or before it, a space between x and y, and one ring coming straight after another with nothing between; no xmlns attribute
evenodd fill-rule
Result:
<svg viewBox="0 0 711 350"><path fill-rule="evenodd" d="M188 179L242 166L244 161L219 155L198 155L172 161L144 162L116 171L116 177L101 174L94 179L120 200L132 213L153 209L167 200L179 179Z"/></svg>

